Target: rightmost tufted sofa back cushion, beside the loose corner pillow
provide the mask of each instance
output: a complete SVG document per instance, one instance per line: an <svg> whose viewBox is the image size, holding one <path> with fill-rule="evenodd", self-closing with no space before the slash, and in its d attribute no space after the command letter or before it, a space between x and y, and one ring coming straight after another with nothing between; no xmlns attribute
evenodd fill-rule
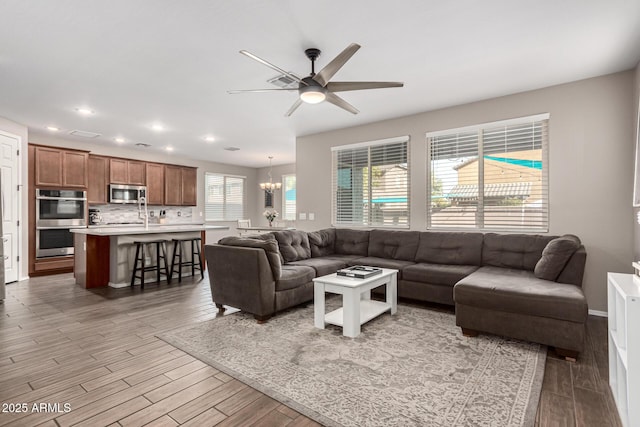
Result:
<svg viewBox="0 0 640 427"><path fill-rule="evenodd" d="M482 265L533 271L547 243L556 237L487 233L482 243Z"/></svg>

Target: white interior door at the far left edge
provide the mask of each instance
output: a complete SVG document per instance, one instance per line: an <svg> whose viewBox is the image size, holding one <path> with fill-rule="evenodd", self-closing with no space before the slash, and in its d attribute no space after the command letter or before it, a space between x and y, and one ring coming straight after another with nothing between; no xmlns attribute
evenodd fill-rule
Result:
<svg viewBox="0 0 640 427"><path fill-rule="evenodd" d="M2 246L4 277L7 283L18 280L18 137L0 131L0 203L2 207Z"/></svg>

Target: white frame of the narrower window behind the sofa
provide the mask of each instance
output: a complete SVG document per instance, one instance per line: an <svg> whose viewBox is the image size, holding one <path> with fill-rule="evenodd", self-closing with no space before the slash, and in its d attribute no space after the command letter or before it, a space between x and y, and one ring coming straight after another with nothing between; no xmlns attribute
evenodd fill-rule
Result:
<svg viewBox="0 0 640 427"><path fill-rule="evenodd" d="M393 145L393 144L398 144L398 143L404 143L405 147L406 147L406 168L407 168L407 173L406 173L406 217L407 217L407 222L406 224L397 224L397 225L393 225L393 224L377 224L374 223L371 218L372 218L372 213L373 210L369 209L368 210L368 218L366 221L363 221L363 223L355 223L355 222L349 222L349 223L344 223L344 222L338 222L337 217L338 217L338 195L337 195L337 189L338 189L338 177L337 177L337 155L340 151L347 151L347 150L355 150L355 149L360 149L360 148L367 148L367 168L370 169L371 168L371 161L372 161L372 157L371 157L371 149L372 148L376 148L376 147L382 147L385 145ZM353 143L353 144L346 144L346 145L339 145L339 146L334 146L331 147L331 224L333 227L348 227L348 228L364 228L364 229L371 229L371 228L388 228L388 229L409 229L411 227L411 137L409 135L402 135L402 136L397 136L397 137L391 137L391 138L385 138L385 139L378 139L378 140L372 140L372 141L364 141L364 142L357 142L357 143ZM369 198L369 204L371 204L371 197L372 197L372 185L371 185L371 176L369 176L369 182L367 184L367 188L368 188L368 194L367 197ZM353 219L353 218L352 218Z"/></svg>

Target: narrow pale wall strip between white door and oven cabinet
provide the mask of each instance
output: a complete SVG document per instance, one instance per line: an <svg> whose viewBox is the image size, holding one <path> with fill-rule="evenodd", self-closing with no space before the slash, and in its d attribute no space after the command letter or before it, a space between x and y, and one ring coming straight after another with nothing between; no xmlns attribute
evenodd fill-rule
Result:
<svg viewBox="0 0 640 427"><path fill-rule="evenodd" d="M27 227L27 224L29 224L29 221L28 221L29 198L28 198L28 191L27 191L27 183L28 183L27 177L29 176L27 172L28 165L29 165L29 157L27 156L27 144L29 141L29 132L26 126L13 122L8 119L5 119L4 117L0 117L0 130L19 136L22 144L22 148L20 149L20 178L19 178L20 182L18 184L23 185L22 189L24 191L22 191L22 194L20 195L20 216L21 216L20 224L22 224L22 226L20 227L21 239L20 239L20 242L18 243L20 248L20 259L21 259L20 271L18 275L19 275L19 280L24 280L29 277L29 263L27 262L27 260L29 259L29 246L27 243L29 241L29 229Z"/></svg>

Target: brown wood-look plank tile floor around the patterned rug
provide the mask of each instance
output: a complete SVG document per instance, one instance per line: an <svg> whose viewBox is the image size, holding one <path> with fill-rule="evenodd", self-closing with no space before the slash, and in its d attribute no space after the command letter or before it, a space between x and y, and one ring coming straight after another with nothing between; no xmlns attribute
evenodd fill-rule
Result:
<svg viewBox="0 0 640 427"><path fill-rule="evenodd" d="M215 316L206 279L144 291L85 290L71 274L7 285L0 425L317 426L155 337ZM606 319L589 319L587 344L576 363L549 352L536 425L620 425Z"/></svg>

